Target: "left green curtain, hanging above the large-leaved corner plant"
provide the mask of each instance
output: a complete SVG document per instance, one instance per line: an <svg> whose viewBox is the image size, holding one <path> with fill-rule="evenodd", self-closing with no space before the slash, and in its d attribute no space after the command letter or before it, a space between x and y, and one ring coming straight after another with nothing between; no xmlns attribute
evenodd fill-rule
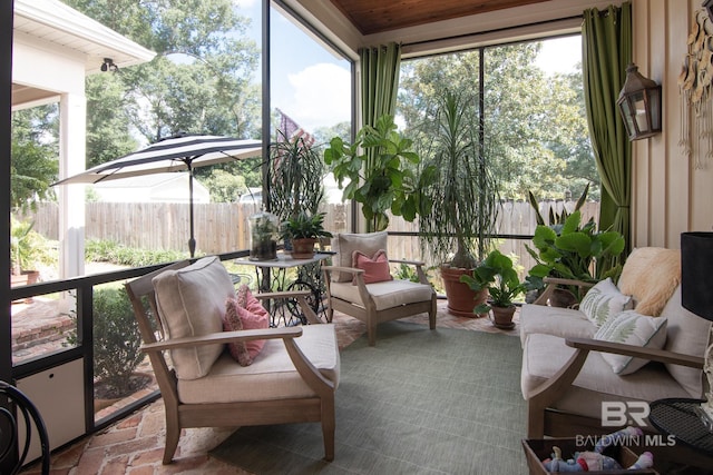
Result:
<svg viewBox="0 0 713 475"><path fill-rule="evenodd" d="M361 115L362 126L373 126L384 113L393 115L397 108L401 46L362 48L361 60Z"/></svg>

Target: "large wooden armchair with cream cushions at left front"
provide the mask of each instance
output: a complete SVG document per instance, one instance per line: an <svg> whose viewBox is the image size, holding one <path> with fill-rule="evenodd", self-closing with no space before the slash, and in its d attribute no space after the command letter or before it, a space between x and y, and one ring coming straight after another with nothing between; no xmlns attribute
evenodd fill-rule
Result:
<svg viewBox="0 0 713 475"><path fill-rule="evenodd" d="M334 458L340 360L333 325L223 331L225 300L235 290L217 257L168 266L126 289L166 407L164 464L172 462L185 427L304 422L321 423L324 458ZM255 297L296 298L316 324L307 295ZM183 334L180 319L189 324ZM264 347L250 366L241 366L225 344L251 340L265 340Z"/></svg>

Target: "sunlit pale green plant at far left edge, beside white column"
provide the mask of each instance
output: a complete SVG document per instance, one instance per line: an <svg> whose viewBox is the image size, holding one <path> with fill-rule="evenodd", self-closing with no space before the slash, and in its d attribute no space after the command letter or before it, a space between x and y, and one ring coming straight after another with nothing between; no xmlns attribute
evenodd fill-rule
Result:
<svg viewBox="0 0 713 475"><path fill-rule="evenodd" d="M56 257L49 241L32 229L31 221L20 221L10 215L10 269L12 274L21 270L37 270L39 264L52 265Z"/></svg>

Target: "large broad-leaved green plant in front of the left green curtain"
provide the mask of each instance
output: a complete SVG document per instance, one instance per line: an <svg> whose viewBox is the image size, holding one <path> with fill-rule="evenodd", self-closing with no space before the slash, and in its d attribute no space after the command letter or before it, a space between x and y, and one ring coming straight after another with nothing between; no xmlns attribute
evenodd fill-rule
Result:
<svg viewBox="0 0 713 475"><path fill-rule="evenodd" d="M324 150L324 161L344 190L344 199L362 204L369 230L387 229L389 210L413 221L420 210L430 209L420 194L428 175L419 178L413 172L420 158L412 144L397 131L393 116L384 115L375 127L364 126L353 144L334 137Z"/></svg>

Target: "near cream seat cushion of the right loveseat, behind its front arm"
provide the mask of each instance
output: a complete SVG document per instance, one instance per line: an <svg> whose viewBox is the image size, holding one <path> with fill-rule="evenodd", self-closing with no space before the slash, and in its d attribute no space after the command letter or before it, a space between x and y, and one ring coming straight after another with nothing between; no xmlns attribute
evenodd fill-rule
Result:
<svg viewBox="0 0 713 475"><path fill-rule="evenodd" d="M574 352L575 348L567 346L564 338L530 335L522 353L522 396L529 399L539 385L563 368ZM661 364L652 363L634 374L619 376L612 372L600 353L589 352L572 386L549 407L600 418L603 402L652 402L666 397L690 397L687 394Z"/></svg>

